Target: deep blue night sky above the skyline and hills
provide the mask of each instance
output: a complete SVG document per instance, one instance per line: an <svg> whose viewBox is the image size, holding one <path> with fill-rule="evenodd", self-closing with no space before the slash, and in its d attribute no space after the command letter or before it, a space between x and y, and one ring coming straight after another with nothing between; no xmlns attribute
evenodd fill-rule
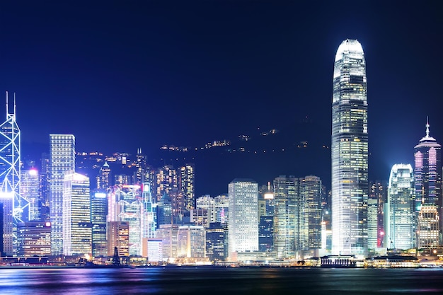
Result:
<svg viewBox="0 0 443 295"><path fill-rule="evenodd" d="M369 175L387 180L394 163L413 164L427 116L443 143L442 16L440 1L1 1L0 91L16 93L22 154L57 133L74 134L77 151L142 147L148 158L162 144L272 128L330 144L335 52L357 39ZM255 173L260 161L250 161ZM205 182L288 173L330 182L330 156L294 172L283 156L270 161L261 175L214 164L218 180ZM197 195L216 193L207 187Z"/></svg>

